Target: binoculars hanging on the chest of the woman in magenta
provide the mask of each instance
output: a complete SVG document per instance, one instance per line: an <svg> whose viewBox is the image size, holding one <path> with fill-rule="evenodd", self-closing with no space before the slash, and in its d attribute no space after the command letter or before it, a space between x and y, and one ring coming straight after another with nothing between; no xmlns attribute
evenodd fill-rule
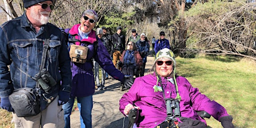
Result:
<svg viewBox="0 0 256 128"><path fill-rule="evenodd" d="M165 99L165 105L166 105L167 117L170 117L170 116L179 117L180 116L179 101L177 99L167 98L167 99Z"/></svg>

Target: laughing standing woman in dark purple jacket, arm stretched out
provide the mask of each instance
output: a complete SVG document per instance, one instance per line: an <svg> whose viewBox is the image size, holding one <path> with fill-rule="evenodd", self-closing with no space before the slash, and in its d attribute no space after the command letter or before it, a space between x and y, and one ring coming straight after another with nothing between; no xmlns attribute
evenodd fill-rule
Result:
<svg viewBox="0 0 256 128"><path fill-rule="evenodd" d="M69 116L76 96L77 106L80 111L81 127L85 125L86 128L91 128L92 94L95 87L92 58L113 78L124 81L124 75L115 68L107 49L102 41L96 37L95 31L92 30L97 18L97 13L94 10L86 10L80 18L81 23L73 25L68 31L72 40L78 39L76 42L68 42L69 45L87 46L88 51L85 63L71 62L71 96L69 101L62 106L64 109L65 127L70 127Z"/></svg>

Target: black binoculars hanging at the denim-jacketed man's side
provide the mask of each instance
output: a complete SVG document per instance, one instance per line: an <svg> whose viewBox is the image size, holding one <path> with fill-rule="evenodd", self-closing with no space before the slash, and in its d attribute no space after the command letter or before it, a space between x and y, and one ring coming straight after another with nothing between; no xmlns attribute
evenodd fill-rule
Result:
<svg viewBox="0 0 256 128"><path fill-rule="evenodd" d="M36 73L34 77L46 93L50 93L50 86L54 86L57 83L45 68L41 72Z"/></svg>

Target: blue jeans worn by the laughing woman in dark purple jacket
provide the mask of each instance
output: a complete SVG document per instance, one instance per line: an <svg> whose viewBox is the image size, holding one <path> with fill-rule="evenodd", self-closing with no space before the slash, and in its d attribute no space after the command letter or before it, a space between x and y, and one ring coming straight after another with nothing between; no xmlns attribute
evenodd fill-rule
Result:
<svg viewBox="0 0 256 128"><path fill-rule="evenodd" d="M70 128L70 114L72 112L73 104L74 97L71 97L67 103L62 105L65 120L64 128ZM91 128L92 95L77 97L77 106L80 111L81 128Z"/></svg>

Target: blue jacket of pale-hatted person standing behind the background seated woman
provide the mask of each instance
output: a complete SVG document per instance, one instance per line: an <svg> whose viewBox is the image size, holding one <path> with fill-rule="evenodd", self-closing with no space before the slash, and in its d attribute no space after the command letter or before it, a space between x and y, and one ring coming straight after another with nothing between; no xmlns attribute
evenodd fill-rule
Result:
<svg viewBox="0 0 256 128"><path fill-rule="evenodd" d="M140 53L142 59L143 59L143 62L145 63L146 62L146 55L149 51L149 43L148 41L141 41L140 39L136 42L136 47L137 47L137 51Z"/></svg>

